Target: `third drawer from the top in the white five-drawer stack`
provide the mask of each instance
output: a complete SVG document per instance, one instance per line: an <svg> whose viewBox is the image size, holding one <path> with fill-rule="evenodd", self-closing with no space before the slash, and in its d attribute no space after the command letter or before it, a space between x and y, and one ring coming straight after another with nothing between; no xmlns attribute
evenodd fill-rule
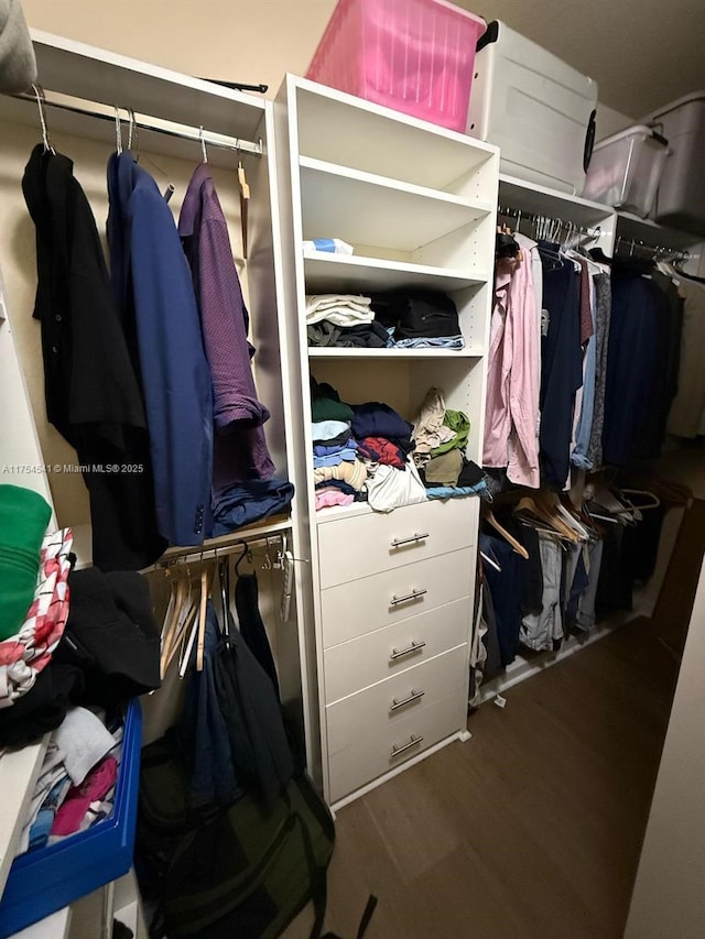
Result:
<svg viewBox="0 0 705 939"><path fill-rule="evenodd" d="M324 652L326 703L383 681L468 641L470 600L463 598Z"/></svg>

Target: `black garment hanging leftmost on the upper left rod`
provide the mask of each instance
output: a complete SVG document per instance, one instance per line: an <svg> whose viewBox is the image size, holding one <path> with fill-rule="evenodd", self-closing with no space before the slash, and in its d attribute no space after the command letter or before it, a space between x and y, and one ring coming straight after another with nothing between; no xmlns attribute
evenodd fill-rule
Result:
<svg viewBox="0 0 705 939"><path fill-rule="evenodd" d="M94 564L135 569L164 549L130 325L120 320L73 162L37 144L22 179L36 227L46 415L75 447L90 495Z"/></svg>

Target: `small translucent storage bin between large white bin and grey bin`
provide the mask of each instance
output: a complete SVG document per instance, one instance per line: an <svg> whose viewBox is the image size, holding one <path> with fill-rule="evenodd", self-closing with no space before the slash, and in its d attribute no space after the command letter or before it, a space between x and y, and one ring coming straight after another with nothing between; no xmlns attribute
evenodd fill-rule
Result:
<svg viewBox="0 0 705 939"><path fill-rule="evenodd" d="M646 218L653 207L669 145L646 124L595 144L583 196Z"/></svg>

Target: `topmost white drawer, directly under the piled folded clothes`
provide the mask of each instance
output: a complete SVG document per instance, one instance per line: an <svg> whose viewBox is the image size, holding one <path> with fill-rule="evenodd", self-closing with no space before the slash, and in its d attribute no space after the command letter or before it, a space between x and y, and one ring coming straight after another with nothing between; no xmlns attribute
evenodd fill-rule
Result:
<svg viewBox="0 0 705 939"><path fill-rule="evenodd" d="M477 543L479 500L431 499L389 514L322 522L318 531L321 588L380 570L471 547Z"/></svg>

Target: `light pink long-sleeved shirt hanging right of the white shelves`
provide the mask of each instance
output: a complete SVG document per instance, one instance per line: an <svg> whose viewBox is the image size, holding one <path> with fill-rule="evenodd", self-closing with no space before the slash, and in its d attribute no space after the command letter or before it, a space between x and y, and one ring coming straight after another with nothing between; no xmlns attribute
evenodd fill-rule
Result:
<svg viewBox="0 0 705 939"><path fill-rule="evenodd" d="M482 462L507 467L511 482L536 489L539 312L531 263L521 251L521 262L507 258L497 264Z"/></svg>

